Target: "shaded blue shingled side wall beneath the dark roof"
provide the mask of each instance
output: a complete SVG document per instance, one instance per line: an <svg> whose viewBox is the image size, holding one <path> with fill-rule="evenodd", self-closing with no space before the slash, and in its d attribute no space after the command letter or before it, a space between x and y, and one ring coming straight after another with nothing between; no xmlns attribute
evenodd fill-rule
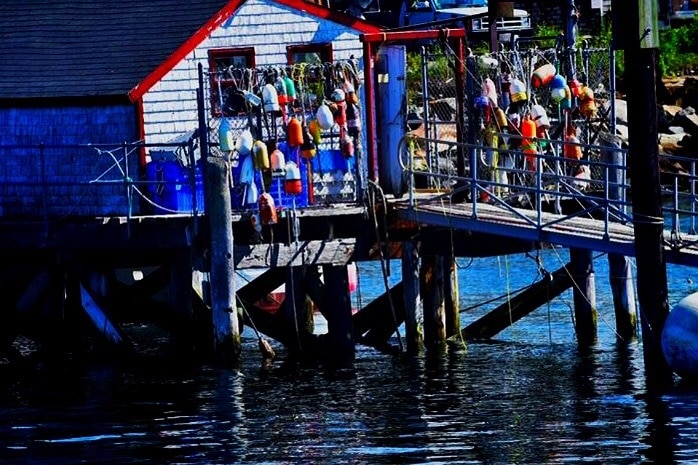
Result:
<svg viewBox="0 0 698 465"><path fill-rule="evenodd" d="M139 151L123 148L137 138L130 104L0 108L0 216L126 215L117 181L138 179Z"/></svg>

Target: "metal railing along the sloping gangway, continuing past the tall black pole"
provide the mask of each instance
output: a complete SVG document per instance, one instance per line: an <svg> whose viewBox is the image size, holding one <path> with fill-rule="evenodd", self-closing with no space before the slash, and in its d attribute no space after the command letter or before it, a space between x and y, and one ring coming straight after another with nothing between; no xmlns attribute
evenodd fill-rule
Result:
<svg viewBox="0 0 698 465"><path fill-rule="evenodd" d="M426 202L467 202L474 220L483 205L488 211L496 206L539 231L575 218L593 219L608 239L612 224L632 227L633 216L628 150L616 138L606 139L600 137L598 145L536 139L545 150L524 153L407 136L401 152L408 178L408 203L415 208ZM439 156L433 163L420 158L418 147L425 144L438 147ZM589 156L567 158L566 146L579 146ZM466 154L465 176L456 174L454 157L459 152ZM665 236L667 245L675 250L696 245L697 163L693 158L660 156Z"/></svg>

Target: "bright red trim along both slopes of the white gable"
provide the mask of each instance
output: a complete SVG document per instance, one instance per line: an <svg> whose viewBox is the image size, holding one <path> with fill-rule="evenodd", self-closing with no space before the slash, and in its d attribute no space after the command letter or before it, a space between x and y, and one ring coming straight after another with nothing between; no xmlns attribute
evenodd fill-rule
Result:
<svg viewBox="0 0 698 465"><path fill-rule="evenodd" d="M324 6L309 3L303 0L269 0L279 5L284 5L294 10L303 11L311 16L322 19L327 19L338 24L350 27L357 32L372 33L380 32L382 29L375 24L369 23L353 16L332 11ZM245 0L229 1L213 18L211 18L204 26L196 31L196 33L187 39L181 47L170 55L160 66L152 73L145 77L141 82L131 89L128 93L131 102L136 102L148 92L155 84L162 79L177 63L182 61L192 50L194 50L201 42L203 42L216 28L225 22L237 9L245 2Z"/></svg>

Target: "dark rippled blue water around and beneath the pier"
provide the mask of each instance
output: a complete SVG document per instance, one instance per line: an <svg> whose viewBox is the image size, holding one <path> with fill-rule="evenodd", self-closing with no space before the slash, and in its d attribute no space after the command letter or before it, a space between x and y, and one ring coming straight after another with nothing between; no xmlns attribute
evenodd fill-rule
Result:
<svg viewBox="0 0 698 465"><path fill-rule="evenodd" d="M550 270L565 260L544 256ZM463 307L537 276L523 256L460 266ZM293 364L278 345L262 368L245 331L239 371L142 357L4 373L0 463L698 463L698 387L647 392L640 341L615 342L605 269L597 260L599 343L586 351L566 293L495 342L420 357L359 347L340 372ZM355 297L368 301L380 268L361 270ZM672 304L694 291L692 273L671 268Z"/></svg>

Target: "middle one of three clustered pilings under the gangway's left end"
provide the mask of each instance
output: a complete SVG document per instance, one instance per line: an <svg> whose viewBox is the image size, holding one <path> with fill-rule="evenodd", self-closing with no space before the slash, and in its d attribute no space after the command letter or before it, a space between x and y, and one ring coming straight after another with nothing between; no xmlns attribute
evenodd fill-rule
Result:
<svg viewBox="0 0 698 465"><path fill-rule="evenodd" d="M446 313L444 311L443 257L422 257L419 281L424 305L424 344L436 348L446 342Z"/></svg>

